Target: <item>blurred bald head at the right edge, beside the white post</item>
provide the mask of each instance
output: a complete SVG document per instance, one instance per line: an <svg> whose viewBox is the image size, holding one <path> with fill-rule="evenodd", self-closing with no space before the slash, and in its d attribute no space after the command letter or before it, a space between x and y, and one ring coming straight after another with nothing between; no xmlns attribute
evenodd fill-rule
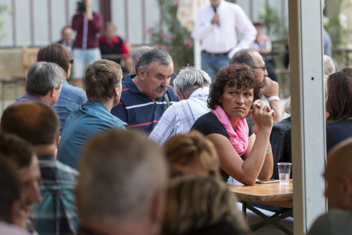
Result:
<svg viewBox="0 0 352 235"><path fill-rule="evenodd" d="M324 177L329 208L352 210L352 138L336 145L328 154Z"/></svg>

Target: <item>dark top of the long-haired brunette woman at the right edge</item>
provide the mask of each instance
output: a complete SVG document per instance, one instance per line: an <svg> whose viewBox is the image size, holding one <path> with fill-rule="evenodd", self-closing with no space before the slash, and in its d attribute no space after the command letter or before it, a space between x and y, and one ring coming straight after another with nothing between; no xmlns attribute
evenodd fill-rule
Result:
<svg viewBox="0 0 352 235"><path fill-rule="evenodd" d="M352 119L344 119L327 125L327 151L341 141L352 137Z"/></svg>

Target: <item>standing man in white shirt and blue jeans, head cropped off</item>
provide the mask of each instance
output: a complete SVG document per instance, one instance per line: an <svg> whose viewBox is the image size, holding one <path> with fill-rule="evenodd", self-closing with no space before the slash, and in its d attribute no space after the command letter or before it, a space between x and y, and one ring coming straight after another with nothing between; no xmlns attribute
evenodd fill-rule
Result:
<svg viewBox="0 0 352 235"><path fill-rule="evenodd" d="M239 42L237 31L243 35ZM212 81L219 69L229 65L233 54L249 48L256 36L257 31L246 13L237 4L225 0L210 0L210 4L201 7L192 32L192 37L201 41L202 69Z"/></svg>

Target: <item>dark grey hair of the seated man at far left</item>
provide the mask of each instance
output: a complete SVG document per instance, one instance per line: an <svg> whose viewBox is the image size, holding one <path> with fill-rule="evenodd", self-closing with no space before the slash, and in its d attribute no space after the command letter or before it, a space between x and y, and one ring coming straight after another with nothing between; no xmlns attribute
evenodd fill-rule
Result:
<svg viewBox="0 0 352 235"><path fill-rule="evenodd" d="M47 95L54 87L59 88L66 72L51 62L37 62L28 71L25 90L34 95Z"/></svg>

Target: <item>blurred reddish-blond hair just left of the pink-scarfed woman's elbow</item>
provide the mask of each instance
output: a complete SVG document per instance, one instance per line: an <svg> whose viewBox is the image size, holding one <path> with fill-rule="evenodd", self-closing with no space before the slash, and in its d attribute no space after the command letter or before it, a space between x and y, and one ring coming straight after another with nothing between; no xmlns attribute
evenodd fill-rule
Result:
<svg viewBox="0 0 352 235"><path fill-rule="evenodd" d="M164 148L169 165L171 163L187 165L199 160L209 175L221 178L218 153L214 144L197 130L171 137L165 143Z"/></svg>

